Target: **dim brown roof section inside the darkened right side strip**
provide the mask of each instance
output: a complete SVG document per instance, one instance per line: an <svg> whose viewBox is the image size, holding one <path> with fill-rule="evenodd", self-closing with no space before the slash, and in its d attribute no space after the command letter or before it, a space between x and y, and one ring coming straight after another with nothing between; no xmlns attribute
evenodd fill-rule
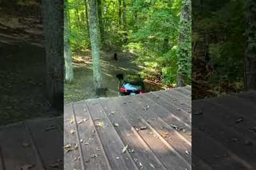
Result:
<svg viewBox="0 0 256 170"><path fill-rule="evenodd" d="M195 100L192 113L197 169L256 169L256 91Z"/></svg>

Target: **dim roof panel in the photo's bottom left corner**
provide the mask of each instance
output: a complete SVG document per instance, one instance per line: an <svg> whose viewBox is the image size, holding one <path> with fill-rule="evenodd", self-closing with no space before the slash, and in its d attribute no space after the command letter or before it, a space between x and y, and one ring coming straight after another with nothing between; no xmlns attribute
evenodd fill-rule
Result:
<svg viewBox="0 0 256 170"><path fill-rule="evenodd" d="M29 146L22 146L27 143ZM20 169L23 165L33 165L35 169L44 169L23 122L0 129L0 146L5 169Z"/></svg>

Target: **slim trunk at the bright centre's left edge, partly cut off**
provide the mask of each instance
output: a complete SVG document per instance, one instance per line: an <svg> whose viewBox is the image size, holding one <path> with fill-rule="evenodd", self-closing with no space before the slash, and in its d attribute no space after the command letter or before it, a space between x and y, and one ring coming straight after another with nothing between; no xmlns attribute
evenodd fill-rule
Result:
<svg viewBox="0 0 256 170"><path fill-rule="evenodd" d="M64 10L64 58L65 58L65 81L71 83L73 81L73 61L70 49L70 30L68 24L68 0L64 2L65 10Z"/></svg>

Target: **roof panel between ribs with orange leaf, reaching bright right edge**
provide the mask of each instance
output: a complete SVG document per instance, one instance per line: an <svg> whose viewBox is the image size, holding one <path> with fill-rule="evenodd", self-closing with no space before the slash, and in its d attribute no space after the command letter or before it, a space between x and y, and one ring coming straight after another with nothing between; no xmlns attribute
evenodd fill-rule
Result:
<svg viewBox="0 0 256 170"><path fill-rule="evenodd" d="M151 126L153 126L153 128L159 134L162 134L167 131L170 134L170 137L165 138L165 140L175 150L177 150L179 155L181 155L189 164L191 164L191 156L190 155L188 156L186 154L186 151L189 151L191 153L191 142L190 142L191 137L190 137L190 141L188 141L184 137L184 136L186 136L186 134L185 134L186 132L183 132L183 131L178 132L177 130L175 130L174 128L172 128L170 126L174 122L173 118L170 116L170 114L168 115L168 113L165 113L165 114L161 115L161 114L159 114L159 112L152 112L150 109L143 110L141 108L141 106L143 106L143 103L141 103L141 100L144 100L144 98L139 97L137 99L135 97L132 97L132 98L127 97L126 99L120 98L119 100L121 100L123 102L126 101L127 102L126 105L130 106L135 113L137 113L146 122L148 122ZM159 109L159 107L156 107L156 108ZM161 117L163 117L164 120ZM171 117L171 118L169 118L169 117ZM184 127L184 126L179 126L179 125L178 125L178 127Z"/></svg>

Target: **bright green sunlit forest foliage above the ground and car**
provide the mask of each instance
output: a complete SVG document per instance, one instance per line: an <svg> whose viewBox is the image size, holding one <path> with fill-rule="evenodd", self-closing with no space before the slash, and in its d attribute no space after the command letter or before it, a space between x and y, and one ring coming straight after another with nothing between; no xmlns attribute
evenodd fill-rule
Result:
<svg viewBox="0 0 256 170"><path fill-rule="evenodd" d="M191 1L188 4L187 28L181 26L182 1L95 0L101 50L126 50L137 55L133 62L143 67L143 78L171 87L177 84L180 66L186 84L191 79ZM70 30L70 47L74 53L90 49L88 0L68 0L66 12ZM186 4L187 3L187 4ZM185 11L186 12L186 11ZM180 32L188 31L180 50ZM186 33L186 32L185 32Z"/></svg>

